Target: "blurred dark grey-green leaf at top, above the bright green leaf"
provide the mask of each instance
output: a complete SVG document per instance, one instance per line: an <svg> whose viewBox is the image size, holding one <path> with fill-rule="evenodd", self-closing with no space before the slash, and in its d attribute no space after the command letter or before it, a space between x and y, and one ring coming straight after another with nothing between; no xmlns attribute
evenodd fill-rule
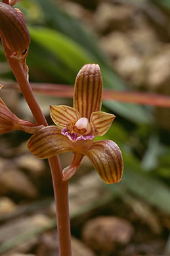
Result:
<svg viewBox="0 0 170 256"><path fill-rule="evenodd" d="M79 20L67 14L57 3L51 0L35 0L35 2L41 5L45 21L51 28L72 38L75 42L79 43L81 47L89 51L93 57L97 57L101 63L108 64L106 56L100 51L97 45L97 39L82 26Z"/></svg>

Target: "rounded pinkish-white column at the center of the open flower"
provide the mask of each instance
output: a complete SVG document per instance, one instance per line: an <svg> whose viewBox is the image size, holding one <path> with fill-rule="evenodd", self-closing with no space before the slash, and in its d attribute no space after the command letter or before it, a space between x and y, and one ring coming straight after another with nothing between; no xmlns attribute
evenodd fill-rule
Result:
<svg viewBox="0 0 170 256"><path fill-rule="evenodd" d="M81 117L75 123L73 130L75 133L80 133L81 135L87 135L91 132L91 125L86 117Z"/></svg>

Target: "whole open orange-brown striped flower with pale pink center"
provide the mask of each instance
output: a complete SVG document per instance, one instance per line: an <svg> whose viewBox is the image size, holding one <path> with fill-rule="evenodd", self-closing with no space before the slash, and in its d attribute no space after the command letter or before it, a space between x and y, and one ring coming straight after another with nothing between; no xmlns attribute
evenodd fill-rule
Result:
<svg viewBox="0 0 170 256"><path fill-rule="evenodd" d="M40 129L28 140L28 148L37 158L73 152L72 163L63 170L64 181L70 179L84 156L93 163L106 183L119 182L123 173L121 151L112 140L94 141L104 135L115 116L101 112L102 75L98 64L86 64L75 79L74 108L51 106L56 126Z"/></svg>

